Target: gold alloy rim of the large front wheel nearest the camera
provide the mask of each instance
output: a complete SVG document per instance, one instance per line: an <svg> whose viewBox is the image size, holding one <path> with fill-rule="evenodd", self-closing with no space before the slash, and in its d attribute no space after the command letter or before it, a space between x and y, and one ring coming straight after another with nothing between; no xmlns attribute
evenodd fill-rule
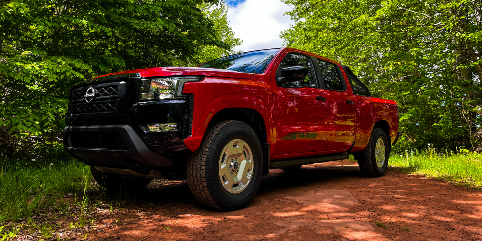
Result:
<svg viewBox="0 0 482 241"><path fill-rule="evenodd" d="M253 177L253 152L241 139L234 139L223 147L219 157L219 181L230 193L240 193Z"/></svg>

